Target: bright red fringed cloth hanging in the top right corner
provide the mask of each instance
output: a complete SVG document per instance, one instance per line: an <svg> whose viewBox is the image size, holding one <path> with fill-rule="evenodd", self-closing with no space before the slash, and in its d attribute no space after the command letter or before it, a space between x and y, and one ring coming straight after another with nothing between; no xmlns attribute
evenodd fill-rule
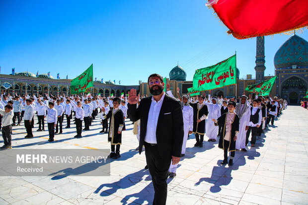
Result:
<svg viewBox="0 0 308 205"><path fill-rule="evenodd" d="M211 0L237 39L282 33L308 26L308 0Z"/></svg>

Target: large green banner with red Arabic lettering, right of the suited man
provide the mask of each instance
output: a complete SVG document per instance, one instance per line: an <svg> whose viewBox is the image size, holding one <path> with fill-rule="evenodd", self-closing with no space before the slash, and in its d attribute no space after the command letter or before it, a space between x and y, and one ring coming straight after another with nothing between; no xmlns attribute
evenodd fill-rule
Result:
<svg viewBox="0 0 308 205"><path fill-rule="evenodd" d="M236 54L214 66L195 71L193 89L195 91L212 90L236 84Z"/></svg>

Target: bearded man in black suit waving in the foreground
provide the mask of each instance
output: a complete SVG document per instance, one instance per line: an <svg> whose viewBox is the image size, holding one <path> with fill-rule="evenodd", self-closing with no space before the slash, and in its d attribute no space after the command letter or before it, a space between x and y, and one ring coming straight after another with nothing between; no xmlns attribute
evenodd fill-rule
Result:
<svg viewBox="0 0 308 205"><path fill-rule="evenodd" d="M128 113L133 122L140 119L139 153L145 145L155 192L153 205L165 205L170 162L177 164L181 157L183 113L180 102L163 92L159 74L150 75L148 84L153 96L143 98L138 108L136 90L128 92Z"/></svg>

